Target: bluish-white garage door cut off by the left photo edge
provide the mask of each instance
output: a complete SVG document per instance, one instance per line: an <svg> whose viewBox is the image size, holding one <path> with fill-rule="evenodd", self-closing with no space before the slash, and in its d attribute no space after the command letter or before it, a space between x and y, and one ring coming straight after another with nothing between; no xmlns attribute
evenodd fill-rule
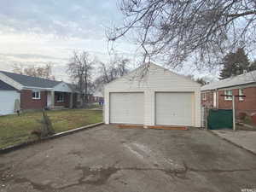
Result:
<svg viewBox="0 0 256 192"><path fill-rule="evenodd" d="M20 99L17 91L0 90L0 115L14 113L16 99Z"/></svg>

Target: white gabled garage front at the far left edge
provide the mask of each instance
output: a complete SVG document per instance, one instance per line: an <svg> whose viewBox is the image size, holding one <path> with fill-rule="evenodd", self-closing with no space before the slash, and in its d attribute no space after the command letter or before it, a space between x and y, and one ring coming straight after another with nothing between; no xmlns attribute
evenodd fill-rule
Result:
<svg viewBox="0 0 256 192"><path fill-rule="evenodd" d="M15 113L16 99L20 100L20 93L0 80L0 115Z"/></svg>

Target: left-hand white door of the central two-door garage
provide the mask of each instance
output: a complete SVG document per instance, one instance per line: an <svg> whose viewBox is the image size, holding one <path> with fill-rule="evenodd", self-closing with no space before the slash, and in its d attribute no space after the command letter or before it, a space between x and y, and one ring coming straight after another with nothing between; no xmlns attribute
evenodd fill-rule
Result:
<svg viewBox="0 0 256 192"><path fill-rule="evenodd" d="M110 123L143 124L143 93L110 93Z"/></svg>

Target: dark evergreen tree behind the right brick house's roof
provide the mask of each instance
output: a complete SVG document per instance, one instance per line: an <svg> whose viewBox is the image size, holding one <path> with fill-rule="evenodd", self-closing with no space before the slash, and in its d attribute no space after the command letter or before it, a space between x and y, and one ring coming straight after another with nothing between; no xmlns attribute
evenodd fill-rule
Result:
<svg viewBox="0 0 256 192"><path fill-rule="evenodd" d="M239 48L235 53L224 56L224 67L220 73L220 79L227 79L231 76L242 74L244 70L250 71L250 61L243 48Z"/></svg>

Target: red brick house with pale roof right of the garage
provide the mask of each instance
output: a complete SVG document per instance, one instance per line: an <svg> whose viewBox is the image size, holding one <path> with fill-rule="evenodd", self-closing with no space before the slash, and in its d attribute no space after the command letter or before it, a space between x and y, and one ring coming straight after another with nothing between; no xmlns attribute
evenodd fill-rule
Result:
<svg viewBox="0 0 256 192"><path fill-rule="evenodd" d="M256 113L256 71L201 87L201 104L207 108L231 109L231 96L246 96L235 97L236 114Z"/></svg>

